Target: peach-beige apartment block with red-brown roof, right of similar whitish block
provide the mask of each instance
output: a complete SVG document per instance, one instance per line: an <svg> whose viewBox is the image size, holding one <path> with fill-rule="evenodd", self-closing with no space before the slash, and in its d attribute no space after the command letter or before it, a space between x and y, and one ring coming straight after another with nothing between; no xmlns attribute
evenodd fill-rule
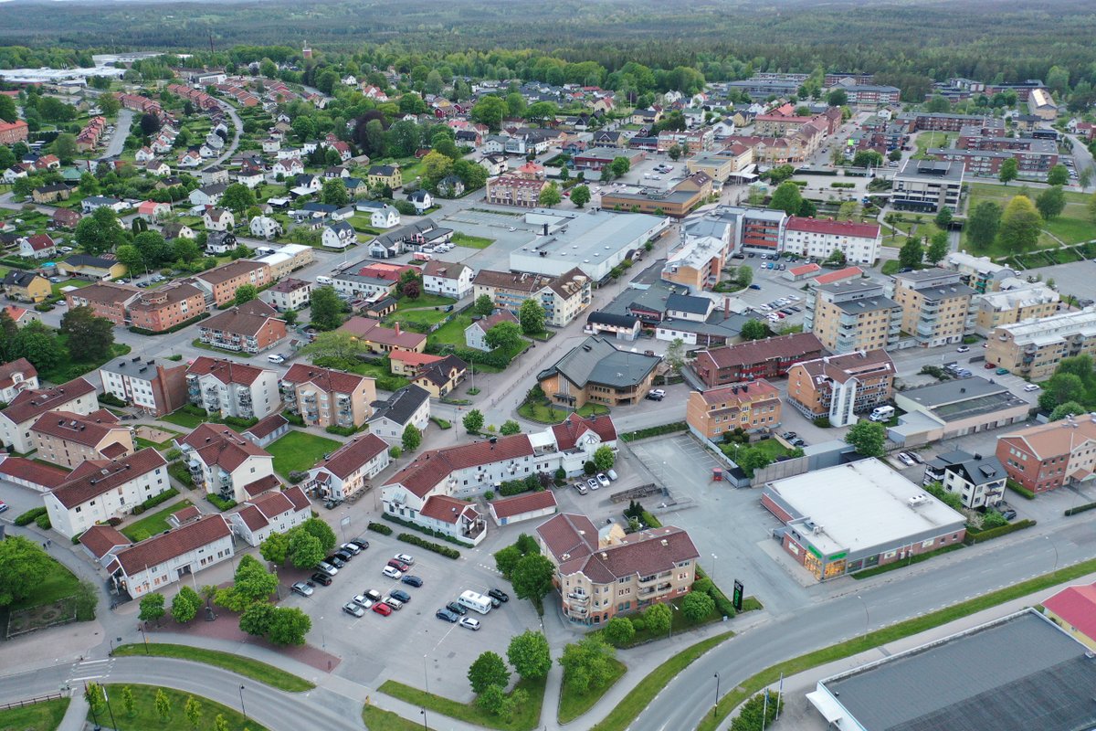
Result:
<svg viewBox="0 0 1096 731"><path fill-rule="evenodd" d="M294 364L278 388L289 411L313 426L361 426L377 400L375 379L305 363Z"/></svg>

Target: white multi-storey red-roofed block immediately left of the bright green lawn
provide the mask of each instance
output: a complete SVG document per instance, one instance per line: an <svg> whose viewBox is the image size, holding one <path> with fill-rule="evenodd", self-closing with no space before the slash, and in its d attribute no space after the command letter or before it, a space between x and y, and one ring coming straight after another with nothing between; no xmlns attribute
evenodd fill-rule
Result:
<svg viewBox="0 0 1096 731"><path fill-rule="evenodd" d="M242 503L277 483L274 457L228 426L198 424L175 444L195 487L221 500Z"/></svg>

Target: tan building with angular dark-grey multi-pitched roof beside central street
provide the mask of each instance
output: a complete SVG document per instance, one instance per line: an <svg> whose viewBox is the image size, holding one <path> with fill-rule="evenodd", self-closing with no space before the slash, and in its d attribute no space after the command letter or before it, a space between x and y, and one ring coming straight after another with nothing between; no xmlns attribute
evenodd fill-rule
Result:
<svg viewBox="0 0 1096 731"><path fill-rule="evenodd" d="M537 382L552 403L580 409L587 401L606 406L639 403L651 389L662 358L617 350L607 338L591 335L552 366Z"/></svg>

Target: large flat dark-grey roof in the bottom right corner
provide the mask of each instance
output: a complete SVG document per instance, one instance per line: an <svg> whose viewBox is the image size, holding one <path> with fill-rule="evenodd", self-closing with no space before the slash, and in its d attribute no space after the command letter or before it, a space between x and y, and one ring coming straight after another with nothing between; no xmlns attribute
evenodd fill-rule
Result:
<svg viewBox="0 0 1096 731"><path fill-rule="evenodd" d="M822 685L840 694L836 700L869 731L1075 731L1096 724L1096 662L1032 609Z"/></svg>

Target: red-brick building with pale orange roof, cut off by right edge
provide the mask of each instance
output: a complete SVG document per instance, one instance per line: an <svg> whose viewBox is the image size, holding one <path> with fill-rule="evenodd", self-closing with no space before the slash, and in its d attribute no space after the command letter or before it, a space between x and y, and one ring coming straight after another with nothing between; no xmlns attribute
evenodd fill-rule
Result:
<svg viewBox="0 0 1096 731"><path fill-rule="evenodd" d="M1068 416L997 438L1008 477L1032 492L1080 484L1096 472L1096 416Z"/></svg>

